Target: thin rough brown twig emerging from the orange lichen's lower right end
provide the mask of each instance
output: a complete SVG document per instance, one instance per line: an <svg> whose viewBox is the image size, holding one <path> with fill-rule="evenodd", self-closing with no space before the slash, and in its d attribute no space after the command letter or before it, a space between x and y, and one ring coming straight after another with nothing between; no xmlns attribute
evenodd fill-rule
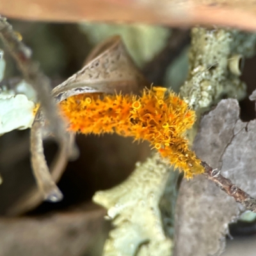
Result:
<svg viewBox="0 0 256 256"><path fill-rule="evenodd" d="M256 212L256 199L233 184L230 179L223 177L220 170L213 169L209 164L201 162L207 179L212 180L221 190L232 196L236 202L242 204L248 211Z"/></svg>

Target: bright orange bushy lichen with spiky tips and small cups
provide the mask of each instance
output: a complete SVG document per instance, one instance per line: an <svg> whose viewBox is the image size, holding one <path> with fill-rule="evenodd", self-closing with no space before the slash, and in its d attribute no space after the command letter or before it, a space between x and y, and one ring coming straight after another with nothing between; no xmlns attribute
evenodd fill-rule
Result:
<svg viewBox="0 0 256 256"><path fill-rule="evenodd" d="M185 132L195 122L195 112L166 88L145 89L141 96L80 94L60 102L70 131L83 134L116 132L135 140L148 140L185 177L204 172L189 150Z"/></svg>

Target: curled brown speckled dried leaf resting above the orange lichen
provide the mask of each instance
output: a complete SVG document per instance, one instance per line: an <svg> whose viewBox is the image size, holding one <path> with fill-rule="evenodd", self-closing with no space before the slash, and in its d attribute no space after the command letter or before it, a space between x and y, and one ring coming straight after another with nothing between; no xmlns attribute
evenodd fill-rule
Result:
<svg viewBox="0 0 256 256"><path fill-rule="evenodd" d="M149 83L134 65L120 36L93 49L85 66L52 90L56 102L80 93L138 93Z"/></svg>

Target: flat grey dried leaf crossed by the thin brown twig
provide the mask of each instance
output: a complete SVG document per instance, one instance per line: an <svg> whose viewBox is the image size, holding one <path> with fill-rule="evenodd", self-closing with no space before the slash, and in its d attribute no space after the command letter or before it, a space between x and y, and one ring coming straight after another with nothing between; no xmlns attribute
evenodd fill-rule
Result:
<svg viewBox="0 0 256 256"><path fill-rule="evenodd" d="M221 100L202 118L194 141L196 155L256 196L256 120L239 119L237 100ZM225 247L228 223L244 211L234 198L213 182L198 175L183 180L175 212L175 256L220 255ZM186 244L186 246L184 246Z"/></svg>

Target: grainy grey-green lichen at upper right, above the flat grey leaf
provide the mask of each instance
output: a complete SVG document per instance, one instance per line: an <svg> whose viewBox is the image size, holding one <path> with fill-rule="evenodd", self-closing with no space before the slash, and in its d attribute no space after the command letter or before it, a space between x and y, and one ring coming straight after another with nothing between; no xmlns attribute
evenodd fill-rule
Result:
<svg viewBox="0 0 256 256"><path fill-rule="evenodd" d="M243 99L246 84L236 65L255 53L256 34L230 29L193 28L188 79L180 95L194 109L205 109L223 95Z"/></svg>

